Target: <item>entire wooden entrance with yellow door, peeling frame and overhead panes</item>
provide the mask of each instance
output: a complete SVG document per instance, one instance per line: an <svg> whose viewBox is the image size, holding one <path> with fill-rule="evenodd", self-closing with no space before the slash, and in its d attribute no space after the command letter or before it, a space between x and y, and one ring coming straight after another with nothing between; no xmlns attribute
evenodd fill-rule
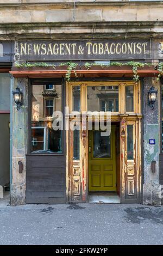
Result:
<svg viewBox="0 0 163 256"><path fill-rule="evenodd" d="M140 82L79 81L67 83L66 88L71 125L79 126L78 131L67 132L68 201L90 202L94 195L98 202L105 202L101 196L117 196L121 203L140 202ZM111 112L111 135L105 138L97 127L90 131L100 112ZM105 115L102 120L106 123Z"/></svg>

